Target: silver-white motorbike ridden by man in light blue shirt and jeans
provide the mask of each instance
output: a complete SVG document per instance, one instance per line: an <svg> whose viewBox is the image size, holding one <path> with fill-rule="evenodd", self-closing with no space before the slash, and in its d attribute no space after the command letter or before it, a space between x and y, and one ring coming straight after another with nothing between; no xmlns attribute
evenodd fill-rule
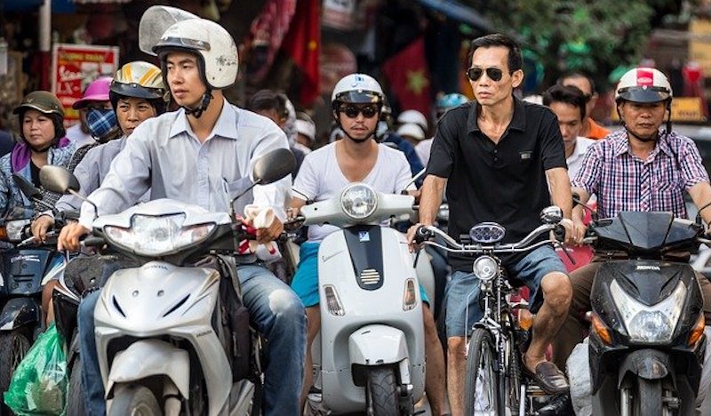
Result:
<svg viewBox="0 0 711 416"><path fill-rule="evenodd" d="M262 156L254 184L292 167L286 149ZM57 166L40 175L45 188L78 188ZM225 302L226 292L239 292L234 254L243 236L234 219L234 212L159 199L94 221L85 245L106 244L142 264L111 275L94 312L109 416L260 414L260 338L248 324L239 325L243 331L229 324L236 305ZM185 266L208 253L217 268Z"/></svg>

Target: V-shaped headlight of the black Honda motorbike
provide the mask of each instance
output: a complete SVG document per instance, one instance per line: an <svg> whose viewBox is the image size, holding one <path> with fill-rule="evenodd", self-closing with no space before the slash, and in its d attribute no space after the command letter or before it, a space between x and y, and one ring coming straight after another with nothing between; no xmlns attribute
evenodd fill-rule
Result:
<svg viewBox="0 0 711 416"><path fill-rule="evenodd" d="M680 282L667 299L647 306L633 299L613 281L610 285L612 300L622 316L629 339L642 343L668 342L674 335L676 322L682 314L686 285Z"/></svg>

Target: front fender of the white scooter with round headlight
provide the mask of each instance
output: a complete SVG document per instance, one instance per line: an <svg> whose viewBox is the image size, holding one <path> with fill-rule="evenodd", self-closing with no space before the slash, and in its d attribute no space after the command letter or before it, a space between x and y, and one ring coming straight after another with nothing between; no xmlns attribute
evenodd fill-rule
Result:
<svg viewBox="0 0 711 416"><path fill-rule="evenodd" d="M404 332L381 324L365 325L348 337L351 364L395 364L408 357Z"/></svg>

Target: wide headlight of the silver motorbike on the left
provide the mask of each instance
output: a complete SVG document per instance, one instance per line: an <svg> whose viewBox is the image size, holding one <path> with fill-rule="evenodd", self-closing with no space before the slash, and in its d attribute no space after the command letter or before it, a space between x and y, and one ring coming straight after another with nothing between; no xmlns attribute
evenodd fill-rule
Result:
<svg viewBox="0 0 711 416"><path fill-rule="evenodd" d="M134 215L130 228L104 227L104 234L112 243L124 246L136 254L156 256L180 251L198 244L210 236L214 223L183 227L185 214L165 216Z"/></svg>

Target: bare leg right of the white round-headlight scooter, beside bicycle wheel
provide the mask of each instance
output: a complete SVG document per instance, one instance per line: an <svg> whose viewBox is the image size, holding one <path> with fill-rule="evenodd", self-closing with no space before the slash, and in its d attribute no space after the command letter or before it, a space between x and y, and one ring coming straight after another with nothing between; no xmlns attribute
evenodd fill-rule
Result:
<svg viewBox="0 0 711 416"><path fill-rule="evenodd" d="M427 400L432 409L433 416L440 416L444 413L444 353L442 343L437 337L437 327L435 317L429 310L427 304L422 308L425 323L425 356L427 367L427 379L425 380L425 392Z"/></svg>

